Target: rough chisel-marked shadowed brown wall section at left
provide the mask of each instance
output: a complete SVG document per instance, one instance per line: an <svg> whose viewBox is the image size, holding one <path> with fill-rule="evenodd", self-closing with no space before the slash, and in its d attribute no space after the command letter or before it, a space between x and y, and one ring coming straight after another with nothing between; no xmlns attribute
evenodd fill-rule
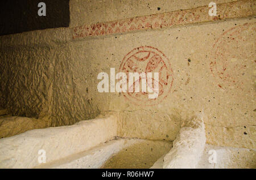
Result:
<svg viewBox="0 0 256 180"><path fill-rule="evenodd" d="M1 105L13 115L49 119L51 126L96 117L97 107L77 92L80 65L72 62L70 51L67 45L2 49Z"/></svg>

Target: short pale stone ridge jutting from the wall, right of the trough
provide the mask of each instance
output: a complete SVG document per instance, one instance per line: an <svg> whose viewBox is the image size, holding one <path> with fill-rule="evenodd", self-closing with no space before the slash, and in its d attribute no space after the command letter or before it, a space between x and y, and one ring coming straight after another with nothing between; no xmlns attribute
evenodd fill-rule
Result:
<svg viewBox="0 0 256 180"><path fill-rule="evenodd" d="M196 168L205 145L203 114L183 123L170 152L164 156L163 168Z"/></svg>

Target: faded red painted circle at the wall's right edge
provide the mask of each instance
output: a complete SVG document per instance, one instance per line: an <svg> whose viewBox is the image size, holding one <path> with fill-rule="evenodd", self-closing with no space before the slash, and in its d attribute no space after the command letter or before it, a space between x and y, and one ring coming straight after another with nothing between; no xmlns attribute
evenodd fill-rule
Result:
<svg viewBox="0 0 256 180"><path fill-rule="evenodd" d="M225 31L214 43L210 71L225 86L245 90L246 71L251 67L255 52L250 52L251 40L255 38L255 23L245 23ZM221 85L218 85L221 87Z"/></svg>

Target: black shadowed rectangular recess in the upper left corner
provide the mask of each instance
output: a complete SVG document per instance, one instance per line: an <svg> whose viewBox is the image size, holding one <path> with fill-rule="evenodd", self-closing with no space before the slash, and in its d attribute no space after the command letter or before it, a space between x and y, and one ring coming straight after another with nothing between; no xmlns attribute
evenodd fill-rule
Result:
<svg viewBox="0 0 256 180"><path fill-rule="evenodd" d="M39 16L39 2L46 16ZM69 0L1 0L0 36L69 26Z"/></svg>

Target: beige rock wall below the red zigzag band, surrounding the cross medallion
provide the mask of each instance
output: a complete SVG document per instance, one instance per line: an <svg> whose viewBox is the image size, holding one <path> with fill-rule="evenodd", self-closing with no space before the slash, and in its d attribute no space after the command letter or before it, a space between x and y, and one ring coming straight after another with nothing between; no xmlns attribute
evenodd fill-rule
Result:
<svg viewBox="0 0 256 180"><path fill-rule="evenodd" d="M236 3L246 5L231 18L254 13L251 8L255 6L247 8L251 2L227 4L225 13L236 11L229 11L229 5ZM118 112L123 113L120 135L168 140L175 138L182 119L204 111L205 123L216 127L214 133L207 132L207 142L255 147L254 130L241 134L242 127L253 128L256 119L254 18L77 40L72 37L73 28L1 36L1 108L13 115L49 120L51 126L71 125L100 112ZM109 74L110 67L118 70L125 55L141 46L159 49L171 64L174 82L168 96L147 106L133 104L119 93L99 93L98 73ZM226 136L222 127L232 128L234 133ZM237 135L242 141L232 142Z"/></svg>

